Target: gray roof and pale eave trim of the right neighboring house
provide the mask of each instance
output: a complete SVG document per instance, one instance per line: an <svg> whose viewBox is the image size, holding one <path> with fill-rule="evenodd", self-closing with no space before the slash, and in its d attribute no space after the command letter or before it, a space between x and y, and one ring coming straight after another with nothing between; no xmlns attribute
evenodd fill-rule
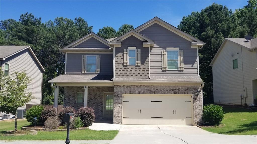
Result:
<svg viewBox="0 0 257 144"><path fill-rule="evenodd" d="M249 40L249 42L247 42L246 39L244 38L225 38L221 44L221 46L219 47L216 55L214 56L213 60L211 61L210 63L210 66L213 65L214 61L216 60L216 58L218 57L219 53L221 52L223 46L225 45L225 43L227 41L230 41L232 43L235 43L235 44L238 44L238 45L241 45L243 46L244 48L247 48L249 51L252 51L254 49L257 48L257 42L255 42L257 40L257 38L254 38L254 39L251 39Z"/></svg>

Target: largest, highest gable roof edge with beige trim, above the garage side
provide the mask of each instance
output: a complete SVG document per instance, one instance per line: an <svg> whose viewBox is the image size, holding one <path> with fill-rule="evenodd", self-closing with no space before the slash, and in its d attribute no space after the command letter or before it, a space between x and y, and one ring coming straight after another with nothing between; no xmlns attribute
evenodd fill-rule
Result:
<svg viewBox="0 0 257 144"><path fill-rule="evenodd" d="M146 23L140 25L139 27L135 28L134 30L137 31L137 32L141 32L142 30L144 30L145 28L153 25L153 24L159 24L167 29L169 29L170 31L172 31L173 33L189 40L190 42L198 42L198 43L202 43L204 45L204 42L202 42L201 40L183 32L182 30L176 28L175 26L165 22L164 20L160 19L159 17L154 17L152 19L150 19L149 21L147 21Z"/></svg>

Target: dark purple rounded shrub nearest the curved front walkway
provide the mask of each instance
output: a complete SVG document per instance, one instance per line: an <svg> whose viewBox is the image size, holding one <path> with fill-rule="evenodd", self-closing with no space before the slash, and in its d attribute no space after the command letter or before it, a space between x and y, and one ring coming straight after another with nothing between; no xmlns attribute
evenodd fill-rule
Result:
<svg viewBox="0 0 257 144"><path fill-rule="evenodd" d="M81 107L78 109L77 115L81 118L85 127L91 126L95 121L95 112L93 108Z"/></svg>

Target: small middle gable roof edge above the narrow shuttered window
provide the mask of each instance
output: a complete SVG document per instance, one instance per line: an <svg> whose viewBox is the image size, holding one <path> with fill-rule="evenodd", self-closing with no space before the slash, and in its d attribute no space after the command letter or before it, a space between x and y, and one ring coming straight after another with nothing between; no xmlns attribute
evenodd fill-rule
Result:
<svg viewBox="0 0 257 144"><path fill-rule="evenodd" d="M130 31L126 32L125 34L113 39L111 42L116 42L116 41L122 41L130 36L135 36L136 38L142 40L142 41L147 41L147 42L153 42L151 39L148 37L140 34L139 32L135 31L134 29L131 29Z"/></svg>

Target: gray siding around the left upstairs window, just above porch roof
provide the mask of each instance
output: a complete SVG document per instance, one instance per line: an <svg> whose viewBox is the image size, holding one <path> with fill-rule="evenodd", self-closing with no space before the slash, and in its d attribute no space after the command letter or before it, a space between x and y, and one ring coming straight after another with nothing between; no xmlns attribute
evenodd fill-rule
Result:
<svg viewBox="0 0 257 144"><path fill-rule="evenodd" d="M112 75L113 54L67 54L66 74L81 74L82 55L100 55L101 67L100 74Z"/></svg>

